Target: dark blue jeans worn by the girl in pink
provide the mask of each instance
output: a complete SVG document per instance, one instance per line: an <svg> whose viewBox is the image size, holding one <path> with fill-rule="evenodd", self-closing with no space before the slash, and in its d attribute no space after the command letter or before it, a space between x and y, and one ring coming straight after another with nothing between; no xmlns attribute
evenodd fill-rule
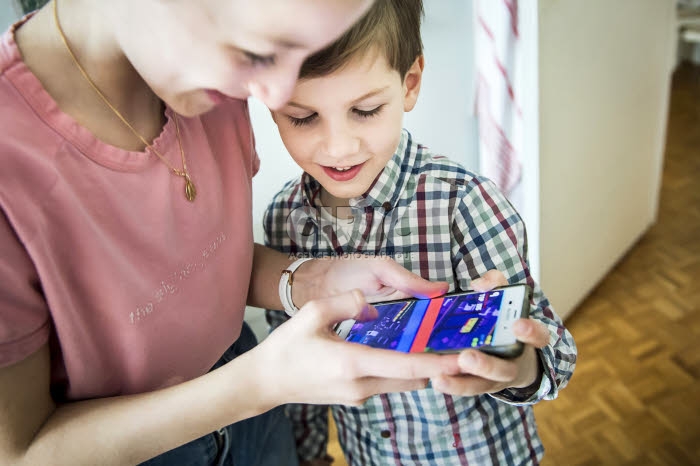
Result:
<svg viewBox="0 0 700 466"><path fill-rule="evenodd" d="M241 336L211 370L257 344L243 323ZM298 466L292 426L284 407L245 419L167 451L142 466Z"/></svg>

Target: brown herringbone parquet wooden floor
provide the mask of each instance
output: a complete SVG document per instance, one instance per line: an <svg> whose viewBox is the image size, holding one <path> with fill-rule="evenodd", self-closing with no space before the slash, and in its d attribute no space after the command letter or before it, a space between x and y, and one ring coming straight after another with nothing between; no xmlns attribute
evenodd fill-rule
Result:
<svg viewBox="0 0 700 466"><path fill-rule="evenodd" d="M579 362L535 406L544 466L700 465L699 281L700 67L682 65L658 221L566 322Z"/></svg>

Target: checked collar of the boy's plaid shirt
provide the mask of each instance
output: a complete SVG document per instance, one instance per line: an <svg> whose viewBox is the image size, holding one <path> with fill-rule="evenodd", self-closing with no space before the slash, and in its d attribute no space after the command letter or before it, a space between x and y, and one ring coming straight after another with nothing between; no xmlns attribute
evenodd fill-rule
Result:
<svg viewBox="0 0 700 466"><path fill-rule="evenodd" d="M401 131L399 145L384 169L379 173L369 190L361 196L350 199L350 206L357 208L383 207L391 210L408 183L409 176L420 156L418 146L414 144L407 130ZM320 207L321 184L308 173L302 175L302 202L306 206Z"/></svg>

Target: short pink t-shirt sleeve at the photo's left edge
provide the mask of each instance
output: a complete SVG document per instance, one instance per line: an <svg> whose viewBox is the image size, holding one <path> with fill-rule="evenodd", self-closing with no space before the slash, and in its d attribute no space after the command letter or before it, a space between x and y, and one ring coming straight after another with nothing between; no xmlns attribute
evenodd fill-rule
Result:
<svg viewBox="0 0 700 466"><path fill-rule="evenodd" d="M21 361L49 338L49 311L27 250L0 210L0 367Z"/></svg>

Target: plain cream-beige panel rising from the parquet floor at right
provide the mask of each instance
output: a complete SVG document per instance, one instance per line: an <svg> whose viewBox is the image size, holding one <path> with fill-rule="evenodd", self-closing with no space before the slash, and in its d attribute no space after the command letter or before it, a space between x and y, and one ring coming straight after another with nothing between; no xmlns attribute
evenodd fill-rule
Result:
<svg viewBox="0 0 700 466"><path fill-rule="evenodd" d="M541 283L566 316L654 222L675 2L539 2Z"/></svg>

